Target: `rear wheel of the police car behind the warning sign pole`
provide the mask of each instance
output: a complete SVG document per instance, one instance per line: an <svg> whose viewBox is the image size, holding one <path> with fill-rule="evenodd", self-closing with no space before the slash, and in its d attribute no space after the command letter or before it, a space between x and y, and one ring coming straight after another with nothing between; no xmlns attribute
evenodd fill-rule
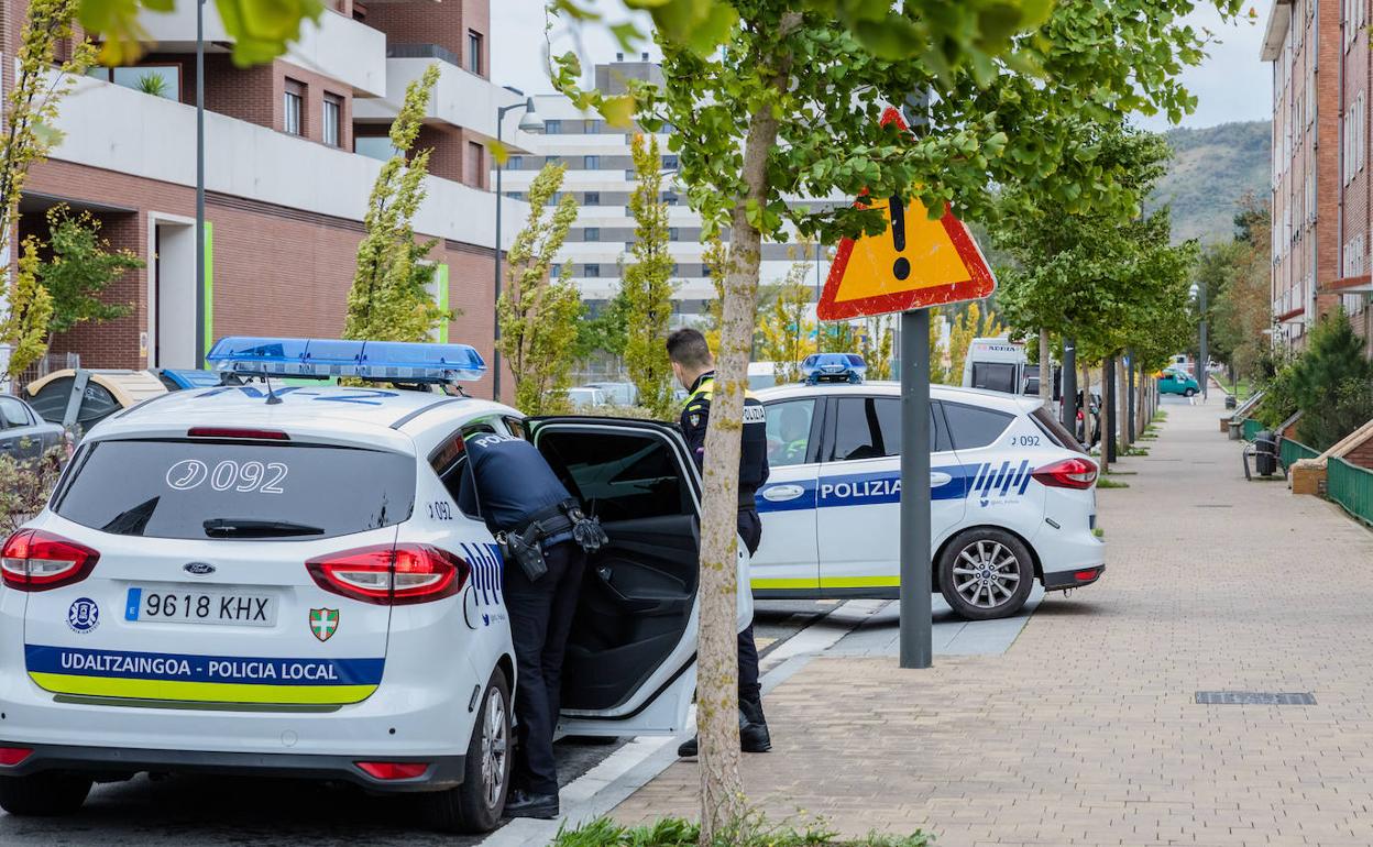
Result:
<svg viewBox="0 0 1373 847"><path fill-rule="evenodd" d="M1004 530L961 533L939 556L939 593L965 620L1015 615L1030 597L1032 582L1030 549Z"/></svg>

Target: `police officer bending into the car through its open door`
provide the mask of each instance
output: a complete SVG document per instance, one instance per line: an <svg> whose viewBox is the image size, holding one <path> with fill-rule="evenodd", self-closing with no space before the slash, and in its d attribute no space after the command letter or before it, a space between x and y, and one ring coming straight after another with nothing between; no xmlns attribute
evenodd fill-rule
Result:
<svg viewBox="0 0 1373 847"><path fill-rule="evenodd" d="M515 642L518 721L511 817L557 817L553 728L563 652L577 611L585 550L604 541L534 445L481 432L467 439L468 472L459 501L501 541L503 589ZM592 538L592 537L599 538ZM585 544L584 544L585 542Z"/></svg>

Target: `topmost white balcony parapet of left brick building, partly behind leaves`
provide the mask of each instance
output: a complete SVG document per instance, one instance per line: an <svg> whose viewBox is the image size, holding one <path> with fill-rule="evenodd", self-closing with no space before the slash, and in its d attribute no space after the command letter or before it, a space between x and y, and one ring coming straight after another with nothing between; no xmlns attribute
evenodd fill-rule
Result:
<svg viewBox="0 0 1373 847"><path fill-rule="evenodd" d="M192 52L195 49L195 4L178 3L170 12L144 10L139 23L162 52ZM232 43L224 21L213 3L205 4L205 41ZM386 92L386 36L371 26L345 18L335 11L324 11L319 23L301 25L301 40L287 48L283 60L298 65L331 80L338 80L362 96Z"/></svg>

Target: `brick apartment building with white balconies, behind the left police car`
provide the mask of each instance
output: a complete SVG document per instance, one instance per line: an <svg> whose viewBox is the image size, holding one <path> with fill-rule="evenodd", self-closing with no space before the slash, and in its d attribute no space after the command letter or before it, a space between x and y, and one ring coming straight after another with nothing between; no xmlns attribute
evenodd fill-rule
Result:
<svg viewBox="0 0 1373 847"><path fill-rule="evenodd" d="M238 69L213 3L205 5L207 338L336 336L343 327L368 195L391 154L386 137L405 85L431 63L439 81L417 147L431 147L420 236L438 239L434 297L461 314L441 335L490 361L496 202L487 146L498 106L519 96L489 80L487 0L335 0L270 65ZM4 52L22 0L0 10ZM147 52L95 69L63 102L63 141L34 166L19 236L43 233L58 203L89 210L119 247L147 262L108 297L125 318L78 327L52 350L86 367L194 367L195 3L146 12ZM7 65L7 85L12 65ZM519 148L518 111L505 139ZM527 206L503 199L507 220ZM505 246L509 232L503 233ZM472 386L490 393L490 380Z"/></svg>

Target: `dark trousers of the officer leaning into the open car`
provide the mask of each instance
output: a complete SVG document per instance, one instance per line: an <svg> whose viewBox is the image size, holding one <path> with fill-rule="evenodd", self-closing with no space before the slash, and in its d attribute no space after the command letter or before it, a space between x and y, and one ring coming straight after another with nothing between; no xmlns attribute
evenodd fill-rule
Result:
<svg viewBox="0 0 1373 847"><path fill-rule="evenodd" d="M563 652L577 611L586 553L571 541L544 552L548 572L530 582L505 563L505 608L518 666L515 718L519 721L514 785L530 793L557 793L553 729L560 706Z"/></svg>

